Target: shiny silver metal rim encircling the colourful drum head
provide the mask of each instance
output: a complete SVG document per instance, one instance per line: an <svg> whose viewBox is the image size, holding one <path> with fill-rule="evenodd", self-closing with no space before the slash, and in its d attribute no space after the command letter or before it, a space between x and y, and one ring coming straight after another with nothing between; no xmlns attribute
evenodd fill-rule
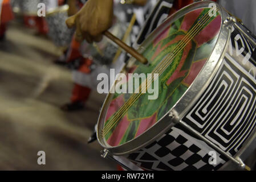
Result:
<svg viewBox="0 0 256 182"><path fill-rule="evenodd" d="M157 34L157 30L164 29L164 27L166 26L165 25L166 23L172 22L173 20L178 19L179 17L189 13L190 11L204 8L204 7L209 7L209 3L214 3L214 2L213 1L195 2L177 11L175 14L167 18L159 27L157 27L156 30L153 31L146 40L144 40L141 46L146 44L147 41L149 42L149 39L152 39L153 36ZM100 115L97 121L97 140L100 143L100 145L105 149L107 149L109 152L111 152L112 155L131 154L132 152L137 151L140 148L147 146L148 144L151 144L157 138L161 137L161 135L165 134L168 130L170 130L170 128L174 126L179 121L179 119L184 117L185 113L191 108L192 105L195 104L195 102L197 101L197 98L201 96L201 94L210 84L210 81L212 80L214 75L216 75L216 72L221 65L222 59L224 59L224 55L227 49L227 45L230 39L230 32L231 32L230 28L225 27L223 23L224 20L229 15L217 3L216 5L220 9L219 13L221 15L222 22L221 22L221 28L217 38L217 42L213 48L212 53L208 57L208 60L206 60L204 67L201 69L200 73L198 73L192 85L189 86L189 88L186 90L186 92L183 94L180 100L177 101L176 105L174 105L172 109L170 109L170 111L164 115L164 117L159 119L159 121L155 123L155 125L149 128L139 137L136 137L124 144L121 144L120 146L115 146L115 147L106 146L104 144L105 142L103 141L103 138L99 136L99 133L100 133L99 125L100 123L101 124L104 123L103 119L105 118L105 115L103 115L103 111L106 110L104 106L106 105L107 102L109 102L109 93L107 94L107 97L105 98L103 106L101 107ZM205 73L209 72L208 71L209 68L212 69L212 72L206 74L207 76L204 76ZM204 78L203 81L201 80L202 76ZM188 97L189 94L190 94L190 97ZM169 113L174 113L175 116L171 118L169 116ZM154 137L147 137L152 135Z"/></svg>

